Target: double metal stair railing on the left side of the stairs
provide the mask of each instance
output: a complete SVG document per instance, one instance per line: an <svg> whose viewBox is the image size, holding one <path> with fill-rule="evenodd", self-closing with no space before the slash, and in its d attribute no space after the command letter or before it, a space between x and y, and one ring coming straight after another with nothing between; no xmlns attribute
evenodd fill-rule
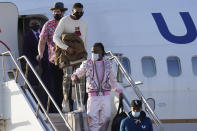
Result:
<svg viewBox="0 0 197 131"><path fill-rule="evenodd" d="M36 93L34 92L31 84L29 83L29 81L27 80L27 78L25 77L24 73L22 72L22 70L19 68L17 62L15 61L12 53L10 51L4 52L0 54L2 56L2 68L3 68L3 81L5 82L5 65L4 65L4 56L10 56L12 61L14 62L14 64L16 65L17 71L20 72L20 74L22 75L23 79L25 80L25 82L27 83L27 85L29 86L31 92L33 93L34 97L36 98L36 100L38 101L38 108L41 107L41 109L43 110L45 116L47 117L48 121L50 122L52 128L55 131L58 131L57 128L55 127L55 125L53 124L53 122L51 121L47 111L45 110L44 106L42 105L40 99L38 98L38 96L36 95ZM50 98L50 100L52 101L52 103L54 104L54 106L56 107L58 113L60 114L60 116L62 117L64 123L66 124L66 126L68 127L68 129L70 131L73 131L73 129L71 128L71 126L69 125L69 123L67 122L67 120L65 119L64 115L62 114L61 110L59 109L59 107L57 106L56 102L54 101L53 97L50 95L49 91L47 90L47 88L45 87L45 85L43 84L42 80L40 79L40 77L38 76L38 74L36 73L36 71L34 70L33 66L31 65L31 63L29 62L28 58L26 56L21 56L18 58L18 60L24 59L28 65L30 66L30 68L32 69L33 73L36 75L36 78L38 79L38 81L40 82L40 84L42 85L43 89L45 90L45 92L48 95L48 98ZM38 112L36 112L37 114Z"/></svg>

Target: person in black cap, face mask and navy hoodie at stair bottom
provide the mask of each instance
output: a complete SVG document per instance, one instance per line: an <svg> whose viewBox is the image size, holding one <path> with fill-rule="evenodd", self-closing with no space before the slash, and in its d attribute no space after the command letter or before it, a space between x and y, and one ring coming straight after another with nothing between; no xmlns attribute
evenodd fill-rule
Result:
<svg viewBox="0 0 197 131"><path fill-rule="evenodd" d="M122 120L120 131L153 131L152 121L142 111L140 100L131 101L131 112L127 118Z"/></svg>

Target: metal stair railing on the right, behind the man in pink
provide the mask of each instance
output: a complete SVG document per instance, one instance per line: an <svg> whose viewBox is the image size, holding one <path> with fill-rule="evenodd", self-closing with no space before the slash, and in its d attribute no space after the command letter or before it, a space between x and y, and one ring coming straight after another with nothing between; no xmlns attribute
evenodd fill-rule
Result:
<svg viewBox="0 0 197 131"><path fill-rule="evenodd" d="M162 127L161 121L159 120L159 118L157 117L157 115L153 112L153 110L150 108L150 106L149 106L148 102L146 101L145 97L143 96L142 92L139 90L139 88L137 88L137 85L132 80L132 78L128 75L128 73L124 69L123 65L120 63L120 61L117 58L117 56L113 55L113 53L111 51L108 51L106 53L109 54L109 55L111 55L111 57L109 59L111 59L111 60L114 59L115 62L120 66L120 70L122 71L123 75L125 76L125 78L129 82L129 85L133 88L133 90L136 93L136 95L138 96L138 98L141 99L142 102L144 103L145 108L147 109L150 117L153 119L153 121L155 122L155 124L158 127L158 129L160 131L164 131L164 129ZM125 96L124 96L124 99L127 102L127 104L129 105L129 101L128 101L128 99Z"/></svg>

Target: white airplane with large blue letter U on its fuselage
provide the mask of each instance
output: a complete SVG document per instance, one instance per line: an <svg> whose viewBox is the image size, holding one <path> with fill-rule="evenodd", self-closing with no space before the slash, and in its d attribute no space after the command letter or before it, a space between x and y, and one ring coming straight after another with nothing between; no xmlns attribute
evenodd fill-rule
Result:
<svg viewBox="0 0 197 131"><path fill-rule="evenodd" d="M21 56L29 19L37 18L42 25L52 19L49 8L54 2L57 0L0 0L0 53L9 50L15 60ZM65 15L69 15L76 1L62 2L68 8ZM89 54L95 42L102 42L106 51L118 57L132 79L142 81L137 88L150 100L149 104L165 131L196 131L197 1L88 0L81 3L85 12L83 19L89 26ZM8 82L7 86L11 84L13 88L5 89L5 84L0 86L0 125L3 125L0 130L46 130L41 120L33 115L31 104L23 97L22 90L17 88L24 84L23 78L19 77L17 84L9 83L13 80L9 73L16 75L13 61L8 56L4 56L4 61L6 66L0 66L0 81ZM128 101L137 98L115 64L125 97ZM112 114L115 114L117 97L113 101L116 106ZM25 114L19 111L20 106L26 110L23 110ZM129 111L129 108L125 110ZM158 130L155 125L154 130Z"/></svg>

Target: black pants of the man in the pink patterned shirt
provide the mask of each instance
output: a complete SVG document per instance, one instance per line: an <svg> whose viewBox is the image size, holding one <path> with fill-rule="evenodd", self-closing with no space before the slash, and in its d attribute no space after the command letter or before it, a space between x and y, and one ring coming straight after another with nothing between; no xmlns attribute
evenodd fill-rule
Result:
<svg viewBox="0 0 197 131"><path fill-rule="evenodd" d="M63 80L63 72L58 66L55 66L53 63L49 63L49 72L50 72L50 83L51 88L49 89L50 94L54 98L55 102L59 106L60 110L62 110L62 100L63 100L63 92L62 92L62 80ZM54 105L51 103L50 112L57 112L54 109Z"/></svg>

